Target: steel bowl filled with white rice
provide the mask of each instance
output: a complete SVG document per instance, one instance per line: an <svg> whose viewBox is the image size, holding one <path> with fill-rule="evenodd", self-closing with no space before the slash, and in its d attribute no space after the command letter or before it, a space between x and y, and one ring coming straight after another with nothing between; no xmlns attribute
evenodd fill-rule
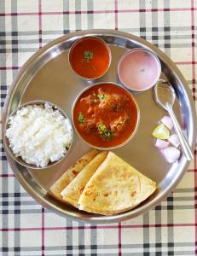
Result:
<svg viewBox="0 0 197 256"><path fill-rule="evenodd" d="M26 102L7 119L5 147L22 166L42 169L65 158L72 146L72 124L52 102Z"/></svg>

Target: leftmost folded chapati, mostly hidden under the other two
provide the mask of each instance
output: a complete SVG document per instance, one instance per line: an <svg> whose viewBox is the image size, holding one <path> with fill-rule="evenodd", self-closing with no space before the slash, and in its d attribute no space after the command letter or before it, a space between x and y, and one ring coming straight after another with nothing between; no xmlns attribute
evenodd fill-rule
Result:
<svg viewBox="0 0 197 256"><path fill-rule="evenodd" d="M99 151L91 149L77 160L50 188L58 198L62 199L61 191L78 175L79 172L92 160Z"/></svg>

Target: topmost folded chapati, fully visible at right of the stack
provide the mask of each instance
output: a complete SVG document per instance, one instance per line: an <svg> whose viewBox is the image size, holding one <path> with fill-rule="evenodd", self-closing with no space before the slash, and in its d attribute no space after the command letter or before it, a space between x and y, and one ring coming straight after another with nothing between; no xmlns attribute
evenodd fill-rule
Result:
<svg viewBox="0 0 197 256"><path fill-rule="evenodd" d="M109 152L80 195L79 209L103 215L125 212L145 201L155 189L154 181Z"/></svg>

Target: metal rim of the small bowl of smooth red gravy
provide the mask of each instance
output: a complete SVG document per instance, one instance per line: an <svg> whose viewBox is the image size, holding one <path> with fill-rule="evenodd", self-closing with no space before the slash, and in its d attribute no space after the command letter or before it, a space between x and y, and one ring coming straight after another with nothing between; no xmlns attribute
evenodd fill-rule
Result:
<svg viewBox="0 0 197 256"><path fill-rule="evenodd" d="M74 70L74 68L72 67L72 64L71 64L71 61L70 61L70 56L71 56L71 54L72 54L72 49L73 49L80 41L83 41L84 39L87 39L87 38L96 38L96 40L100 41L100 42L107 48L108 55L109 55L109 63L108 63L108 66L107 66L105 72L104 72L104 73L101 73L100 76L97 76L97 77L95 77L95 78L85 78L85 77L79 75L79 74ZM98 36L95 36L95 35L87 35L87 36L82 36L82 37L80 37L80 38L78 38L78 39L76 39L76 40L74 41L74 43L72 44L71 48L69 49L68 57L67 57L67 58L68 58L69 66L70 66L71 69L72 69L72 72L75 73L75 74L78 76L78 78L84 79L84 80L87 80L87 81L93 81L93 80L95 80L95 79L101 79L101 77L104 76L104 75L107 73L107 71L109 70L109 67L111 66L111 62L112 62L112 53L111 53L111 49L109 48L109 45L108 45L103 39L101 39L101 38L99 38Z"/></svg>

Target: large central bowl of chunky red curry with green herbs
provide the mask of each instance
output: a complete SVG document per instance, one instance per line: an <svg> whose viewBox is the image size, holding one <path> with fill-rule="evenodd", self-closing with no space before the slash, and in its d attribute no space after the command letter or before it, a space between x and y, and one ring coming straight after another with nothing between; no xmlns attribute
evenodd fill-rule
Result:
<svg viewBox="0 0 197 256"><path fill-rule="evenodd" d="M98 83L84 89L72 107L78 136L92 148L114 149L128 143L139 125L135 98L121 85Z"/></svg>

